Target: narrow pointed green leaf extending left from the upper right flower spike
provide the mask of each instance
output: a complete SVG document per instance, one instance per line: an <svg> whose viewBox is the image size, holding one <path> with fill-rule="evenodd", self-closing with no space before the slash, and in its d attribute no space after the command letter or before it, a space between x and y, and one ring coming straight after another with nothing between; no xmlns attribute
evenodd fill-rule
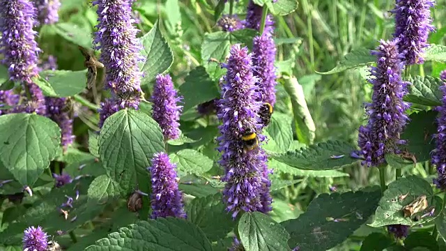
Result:
<svg viewBox="0 0 446 251"><path fill-rule="evenodd" d="M361 66L367 66L376 61L376 56L370 54L370 50L366 48L360 48L348 52L341 61L332 70L325 73L319 73L322 75L330 75L334 73L341 73L344 70L359 68Z"/></svg>

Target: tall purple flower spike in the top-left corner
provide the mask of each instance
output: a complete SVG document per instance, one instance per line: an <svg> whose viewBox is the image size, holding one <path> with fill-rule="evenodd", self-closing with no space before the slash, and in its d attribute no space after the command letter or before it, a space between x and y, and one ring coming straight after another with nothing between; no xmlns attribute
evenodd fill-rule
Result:
<svg viewBox="0 0 446 251"><path fill-rule="evenodd" d="M33 77L38 74L40 52L34 40L37 32L33 31L36 8L29 0L0 0L0 6L1 63L8 66L10 79L24 84L29 91L26 97L31 97L31 100L26 100L10 112L36 112L45 115L45 98L39 87L32 82Z"/></svg>

